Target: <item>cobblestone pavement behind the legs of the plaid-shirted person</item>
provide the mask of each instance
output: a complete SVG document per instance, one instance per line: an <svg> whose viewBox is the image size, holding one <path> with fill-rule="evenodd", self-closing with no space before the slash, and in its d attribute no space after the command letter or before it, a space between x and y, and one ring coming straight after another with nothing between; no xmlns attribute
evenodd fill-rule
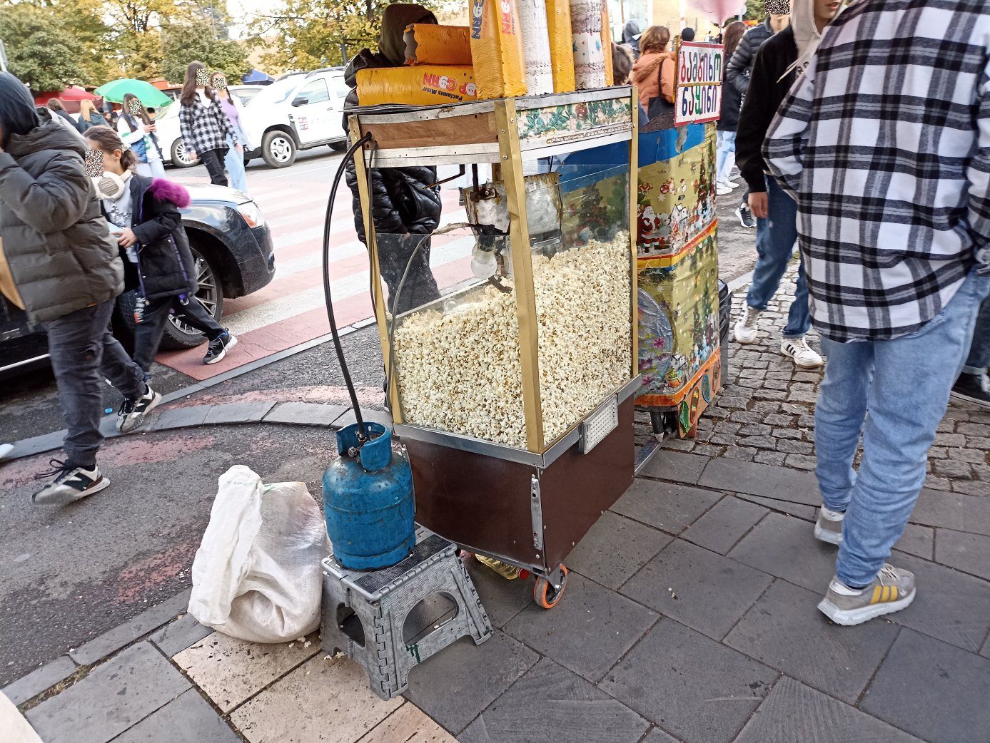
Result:
<svg viewBox="0 0 990 743"><path fill-rule="evenodd" d="M815 468L814 413L823 372L798 369L779 352L795 272L796 263L760 317L757 341L743 346L730 339L728 385L699 421L697 438L669 441L666 448L797 470ZM733 323L745 290L733 297ZM820 348L815 330L808 337ZM641 440L645 432L641 425ZM930 452L925 487L990 497L990 413L970 405L949 406Z"/></svg>

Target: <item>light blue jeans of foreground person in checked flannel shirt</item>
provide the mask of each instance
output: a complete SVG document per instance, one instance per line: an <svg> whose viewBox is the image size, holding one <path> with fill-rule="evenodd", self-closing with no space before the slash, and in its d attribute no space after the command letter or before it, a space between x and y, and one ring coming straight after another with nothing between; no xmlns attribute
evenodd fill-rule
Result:
<svg viewBox="0 0 990 743"><path fill-rule="evenodd" d="M918 332L848 343L822 338L829 361L815 410L816 474L826 508L845 511L836 575L847 586L870 583L904 532L988 293L990 278L971 273Z"/></svg>

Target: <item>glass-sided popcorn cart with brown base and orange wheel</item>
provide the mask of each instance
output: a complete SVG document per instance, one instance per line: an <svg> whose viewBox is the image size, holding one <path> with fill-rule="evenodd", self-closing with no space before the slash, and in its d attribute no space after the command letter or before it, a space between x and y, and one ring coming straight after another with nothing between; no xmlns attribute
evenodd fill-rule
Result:
<svg viewBox="0 0 990 743"><path fill-rule="evenodd" d="M533 572L545 608L567 554L634 478L637 109L616 87L350 117L351 140L369 136L354 159L417 521ZM612 154L596 163L595 148ZM561 161L579 151L580 165ZM371 229L368 171L449 164L470 168L468 223L417 235L441 296L392 317L406 305L385 297L394 243Z"/></svg>

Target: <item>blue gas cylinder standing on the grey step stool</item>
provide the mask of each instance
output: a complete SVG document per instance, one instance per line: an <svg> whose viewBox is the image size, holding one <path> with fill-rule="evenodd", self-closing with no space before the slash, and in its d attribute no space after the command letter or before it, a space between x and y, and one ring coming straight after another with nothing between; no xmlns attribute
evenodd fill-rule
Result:
<svg viewBox="0 0 990 743"><path fill-rule="evenodd" d="M392 431L364 423L368 440L357 447L357 423L337 432L340 456L323 475L327 533L338 561L351 570L379 570L405 558L416 544L416 502L409 460L392 450ZM357 450L357 456L348 451Z"/></svg>

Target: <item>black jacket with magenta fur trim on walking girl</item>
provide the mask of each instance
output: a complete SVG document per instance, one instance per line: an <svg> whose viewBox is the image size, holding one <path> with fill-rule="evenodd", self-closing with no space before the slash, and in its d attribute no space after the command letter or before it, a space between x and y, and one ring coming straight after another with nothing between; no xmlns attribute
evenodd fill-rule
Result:
<svg viewBox="0 0 990 743"><path fill-rule="evenodd" d="M132 175L128 181L138 238L137 266L125 258L127 290L139 289L146 299L196 293L196 264L182 227L180 207L189 205L185 187L163 178Z"/></svg>

